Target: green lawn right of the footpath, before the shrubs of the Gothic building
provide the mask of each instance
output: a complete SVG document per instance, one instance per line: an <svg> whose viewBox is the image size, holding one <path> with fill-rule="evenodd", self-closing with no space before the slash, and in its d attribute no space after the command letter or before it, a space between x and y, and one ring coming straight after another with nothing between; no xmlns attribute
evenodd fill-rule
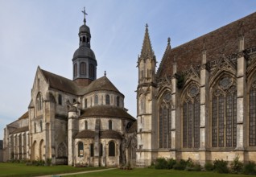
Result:
<svg viewBox="0 0 256 177"><path fill-rule="evenodd" d="M97 177L97 176L122 176L122 177L131 177L131 176L138 176L138 177L250 177L253 175L235 175L235 174L218 174L214 172L208 171L174 171L174 170L155 170L149 168L138 168L131 171L124 171L124 170L110 170L110 171L101 171L101 172L93 172L93 173L86 173L81 175L68 175L68 177Z"/></svg>

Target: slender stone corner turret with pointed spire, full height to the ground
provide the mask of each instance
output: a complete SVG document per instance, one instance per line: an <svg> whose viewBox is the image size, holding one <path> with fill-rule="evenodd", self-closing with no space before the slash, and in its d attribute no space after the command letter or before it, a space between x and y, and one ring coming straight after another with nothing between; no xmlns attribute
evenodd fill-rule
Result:
<svg viewBox="0 0 256 177"><path fill-rule="evenodd" d="M138 87L137 87L137 121L138 150L136 162L138 166L149 166L155 149L155 54L151 47L148 26L142 44L141 55L138 56Z"/></svg>

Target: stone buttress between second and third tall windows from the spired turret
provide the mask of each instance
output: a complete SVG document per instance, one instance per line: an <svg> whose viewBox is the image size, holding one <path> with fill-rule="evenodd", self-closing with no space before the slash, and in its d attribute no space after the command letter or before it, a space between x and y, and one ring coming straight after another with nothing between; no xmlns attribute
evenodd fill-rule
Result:
<svg viewBox="0 0 256 177"><path fill-rule="evenodd" d="M202 53L202 65L200 70L200 149L199 157L200 164L204 164L206 158L206 147L207 147L207 134L209 129L207 127L209 115L209 67L206 62L206 50ZM208 131L208 132L206 132Z"/></svg>

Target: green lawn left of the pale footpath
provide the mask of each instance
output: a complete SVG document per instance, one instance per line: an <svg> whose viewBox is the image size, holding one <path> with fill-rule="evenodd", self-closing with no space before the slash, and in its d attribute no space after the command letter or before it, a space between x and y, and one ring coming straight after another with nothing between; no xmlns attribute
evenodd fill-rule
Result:
<svg viewBox="0 0 256 177"><path fill-rule="evenodd" d="M72 173L78 171L93 171L104 169L105 167L69 167L52 166L36 167L26 166L25 163L0 163L0 176L35 176L35 175L54 175L61 173Z"/></svg>

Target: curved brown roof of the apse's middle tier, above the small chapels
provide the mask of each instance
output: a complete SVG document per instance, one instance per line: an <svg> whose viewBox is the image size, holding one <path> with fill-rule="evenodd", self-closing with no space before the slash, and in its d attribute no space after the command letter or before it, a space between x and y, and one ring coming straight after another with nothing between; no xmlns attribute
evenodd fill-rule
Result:
<svg viewBox="0 0 256 177"><path fill-rule="evenodd" d="M97 105L84 110L81 117L123 117L135 121L136 119L132 117L125 109L108 106L108 105Z"/></svg>

